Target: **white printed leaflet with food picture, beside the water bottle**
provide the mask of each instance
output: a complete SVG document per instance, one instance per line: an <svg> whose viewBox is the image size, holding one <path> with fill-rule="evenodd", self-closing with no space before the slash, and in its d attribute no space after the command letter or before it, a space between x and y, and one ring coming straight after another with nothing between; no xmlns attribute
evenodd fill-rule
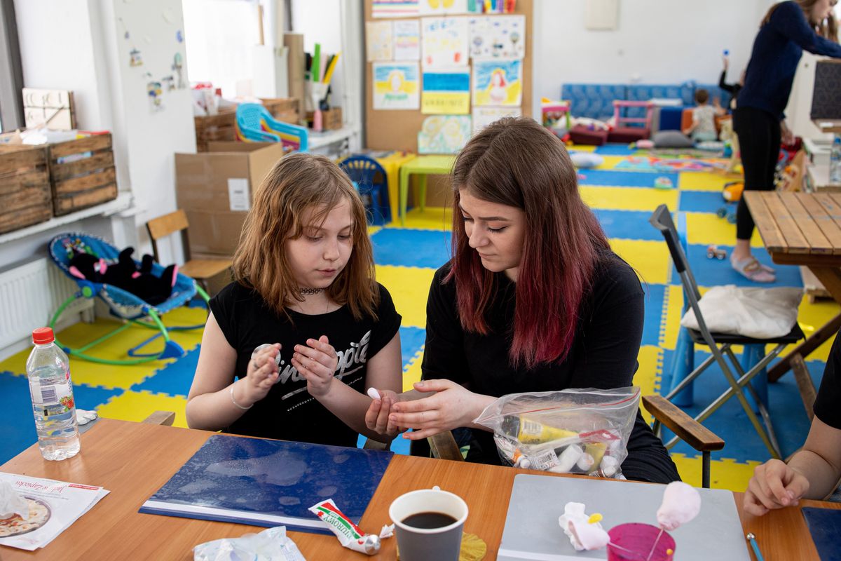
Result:
<svg viewBox="0 0 841 561"><path fill-rule="evenodd" d="M2 472L0 481L11 484L30 505L25 523L19 518L0 521L0 545L28 551L43 548L108 495L102 487Z"/></svg>

